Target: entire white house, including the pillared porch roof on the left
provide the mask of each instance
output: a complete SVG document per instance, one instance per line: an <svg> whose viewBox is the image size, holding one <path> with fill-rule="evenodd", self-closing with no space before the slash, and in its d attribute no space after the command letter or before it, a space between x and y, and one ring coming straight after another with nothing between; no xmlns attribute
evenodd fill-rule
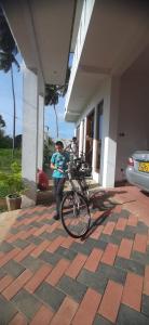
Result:
<svg viewBox="0 0 149 325"><path fill-rule="evenodd" d="M149 147L149 5L126 0L2 0L24 57L23 177L36 203L43 160L44 84L64 84L65 118L104 187L124 178L127 156Z"/></svg>

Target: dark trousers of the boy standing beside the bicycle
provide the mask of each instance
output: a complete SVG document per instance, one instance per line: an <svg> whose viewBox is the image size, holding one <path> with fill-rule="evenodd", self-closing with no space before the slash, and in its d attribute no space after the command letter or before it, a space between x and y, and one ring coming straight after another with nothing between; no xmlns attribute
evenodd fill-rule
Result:
<svg viewBox="0 0 149 325"><path fill-rule="evenodd" d="M56 198L56 213L59 214L59 207L63 199L65 178L54 178L54 195Z"/></svg>

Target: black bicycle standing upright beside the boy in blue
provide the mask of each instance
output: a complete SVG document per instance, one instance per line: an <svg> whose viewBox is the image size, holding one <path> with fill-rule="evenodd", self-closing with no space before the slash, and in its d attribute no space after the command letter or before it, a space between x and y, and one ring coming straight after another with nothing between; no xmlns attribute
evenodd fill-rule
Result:
<svg viewBox="0 0 149 325"><path fill-rule="evenodd" d="M91 224L89 207L89 185L85 182L86 170L80 158L68 162L68 181L71 190L62 200L60 219L66 232L74 238L84 236ZM77 180L80 188L74 185Z"/></svg>

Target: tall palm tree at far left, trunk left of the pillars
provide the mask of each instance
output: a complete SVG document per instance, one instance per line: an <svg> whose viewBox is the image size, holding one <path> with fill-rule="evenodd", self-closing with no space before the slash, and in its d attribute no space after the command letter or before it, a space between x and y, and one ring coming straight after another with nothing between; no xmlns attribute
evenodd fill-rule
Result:
<svg viewBox="0 0 149 325"><path fill-rule="evenodd" d="M12 95L13 95L13 151L14 156L15 148L15 118L16 118L16 105L15 105L15 92L14 92L14 78L13 78L13 63L19 70L19 64L15 58L17 54L17 47L9 28L8 22L0 8L0 69L4 73L11 70L12 80Z"/></svg>

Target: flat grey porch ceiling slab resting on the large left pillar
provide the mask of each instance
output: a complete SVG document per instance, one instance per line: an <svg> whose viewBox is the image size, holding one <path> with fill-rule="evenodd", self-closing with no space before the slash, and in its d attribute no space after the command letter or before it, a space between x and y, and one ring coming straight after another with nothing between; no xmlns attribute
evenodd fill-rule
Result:
<svg viewBox="0 0 149 325"><path fill-rule="evenodd" d="M76 0L2 0L26 66L43 83L64 84L68 65Z"/></svg>

